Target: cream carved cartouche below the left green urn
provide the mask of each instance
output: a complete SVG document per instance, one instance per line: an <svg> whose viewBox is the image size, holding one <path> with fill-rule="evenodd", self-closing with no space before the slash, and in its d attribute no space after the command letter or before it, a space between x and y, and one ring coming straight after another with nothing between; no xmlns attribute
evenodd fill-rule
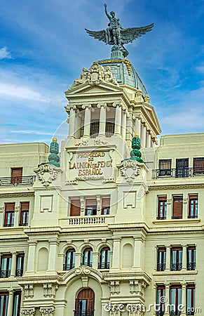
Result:
<svg viewBox="0 0 204 316"><path fill-rule="evenodd" d="M53 180L57 178L57 174L62 172L59 167L53 166L53 164L43 164L38 169L34 170L41 183L48 187Z"/></svg>

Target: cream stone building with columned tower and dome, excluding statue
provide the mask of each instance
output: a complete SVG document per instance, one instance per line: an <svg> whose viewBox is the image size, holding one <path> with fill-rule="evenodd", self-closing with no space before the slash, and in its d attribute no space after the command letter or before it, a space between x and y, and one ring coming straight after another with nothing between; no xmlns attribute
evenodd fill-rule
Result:
<svg viewBox="0 0 204 316"><path fill-rule="evenodd" d="M204 133L158 145L126 59L83 68L65 96L60 153L0 146L0 315L202 315Z"/></svg>

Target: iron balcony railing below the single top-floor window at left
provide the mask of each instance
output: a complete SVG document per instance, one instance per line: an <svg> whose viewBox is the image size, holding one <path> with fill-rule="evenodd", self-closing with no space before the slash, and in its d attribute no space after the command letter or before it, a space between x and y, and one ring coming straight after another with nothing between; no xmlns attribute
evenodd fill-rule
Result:
<svg viewBox="0 0 204 316"><path fill-rule="evenodd" d="M21 185L34 185L36 176L23 176L23 177L6 177L0 178L0 187L16 187Z"/></svg>

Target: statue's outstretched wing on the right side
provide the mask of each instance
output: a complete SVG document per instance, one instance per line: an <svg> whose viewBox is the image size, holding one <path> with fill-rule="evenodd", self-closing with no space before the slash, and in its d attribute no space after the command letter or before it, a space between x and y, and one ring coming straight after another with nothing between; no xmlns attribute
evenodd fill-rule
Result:
<svg viewBox="0 0 204 316"><path fill-rule="evenodd" d="M137 39L137 37L142 37L142 35L151 31L154 27L154 23L146 25L145 27L129 27L128 29L121 29L121 42L123 44L128 44Z"/></svg>

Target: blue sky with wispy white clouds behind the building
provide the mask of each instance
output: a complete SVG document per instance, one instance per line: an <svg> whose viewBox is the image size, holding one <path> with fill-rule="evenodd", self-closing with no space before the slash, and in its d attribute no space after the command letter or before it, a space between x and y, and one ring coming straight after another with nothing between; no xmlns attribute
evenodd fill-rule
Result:
<svg viewBox="0 0 204 316"><path fill-rule="evenodd" d="M49 143L56 129L66 135L64 91L82 67L110 56L110 46L84 31L107 27L103 4L1 1L0 143ZM125 47L162 134L204 132L204 1L107 0L107 8L123 28L154 22L151 32Z"/></svg>

